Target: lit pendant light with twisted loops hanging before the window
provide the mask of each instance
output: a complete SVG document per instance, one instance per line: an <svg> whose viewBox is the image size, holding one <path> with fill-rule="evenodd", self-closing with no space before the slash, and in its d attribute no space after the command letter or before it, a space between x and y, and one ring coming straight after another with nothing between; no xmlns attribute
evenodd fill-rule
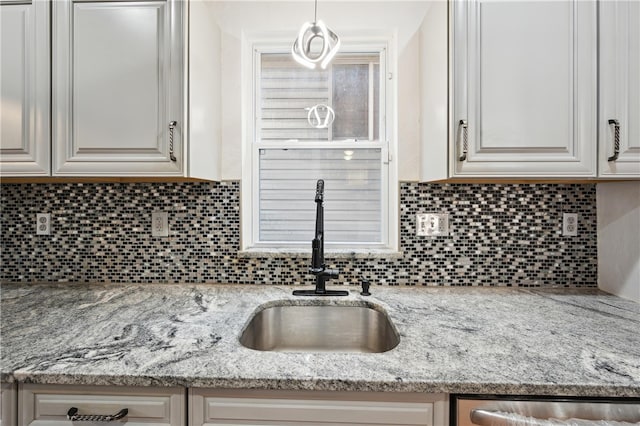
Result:
<svg viewBox="0 0 640 426"><path fill-rule="evenodd" d="M314 41L322 42L319 52L311 51L311 44ZM318 64L320 68L325 69L338 53L338 49L340 49L340 38L318 19L318 0L315 0L313 23L302 24L298 38L291 47L293 59L309 69L315 69Z"/></svg>

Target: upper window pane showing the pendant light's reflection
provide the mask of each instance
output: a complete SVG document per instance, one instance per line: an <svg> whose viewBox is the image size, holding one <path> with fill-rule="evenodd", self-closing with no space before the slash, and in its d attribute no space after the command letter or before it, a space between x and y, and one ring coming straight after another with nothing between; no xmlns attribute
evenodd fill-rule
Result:
<svg viewBox="0 0 640 426"><path fill-rule="evenodd" d="M345 53L338 54L327 70L309 70L288 53L262 53L256 111L258 139L378 140L379 62L377 53ZM317 105L333 108L333 125L316 128L308 122L309 110Z"/></svg>

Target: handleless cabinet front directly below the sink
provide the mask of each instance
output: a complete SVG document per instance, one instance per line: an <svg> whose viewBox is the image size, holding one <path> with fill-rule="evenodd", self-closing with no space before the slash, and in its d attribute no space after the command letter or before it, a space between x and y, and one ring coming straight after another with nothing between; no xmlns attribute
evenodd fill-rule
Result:
<svg viewBox="0 0 640 426"><path fill-rule="evenodd" d="M447 424L444 394L189 390L190 426Z"/></svg>

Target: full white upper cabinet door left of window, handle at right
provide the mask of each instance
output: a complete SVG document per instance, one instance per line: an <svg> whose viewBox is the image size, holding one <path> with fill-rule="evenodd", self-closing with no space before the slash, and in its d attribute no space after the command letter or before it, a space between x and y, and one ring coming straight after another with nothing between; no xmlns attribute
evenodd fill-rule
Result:
<svg viewBox="0 0 640 426"><path fill-rule="evenodd" d="M183 7L53 2L54 175L183 174Z"/></svg>

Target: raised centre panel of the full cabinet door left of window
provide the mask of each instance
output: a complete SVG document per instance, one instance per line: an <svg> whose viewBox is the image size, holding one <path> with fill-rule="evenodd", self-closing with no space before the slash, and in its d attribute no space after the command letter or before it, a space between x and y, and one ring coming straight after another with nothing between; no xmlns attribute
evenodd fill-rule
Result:
<svg viewBox="0 0 640 426"><path fill-rule="evenodd" d="M74 5L73 150L158 156L166 5ZM113 29L117 28L117 31ZM131 96L135 93L135 96ZM129 152L131 151L131 152Z"/></svg>

